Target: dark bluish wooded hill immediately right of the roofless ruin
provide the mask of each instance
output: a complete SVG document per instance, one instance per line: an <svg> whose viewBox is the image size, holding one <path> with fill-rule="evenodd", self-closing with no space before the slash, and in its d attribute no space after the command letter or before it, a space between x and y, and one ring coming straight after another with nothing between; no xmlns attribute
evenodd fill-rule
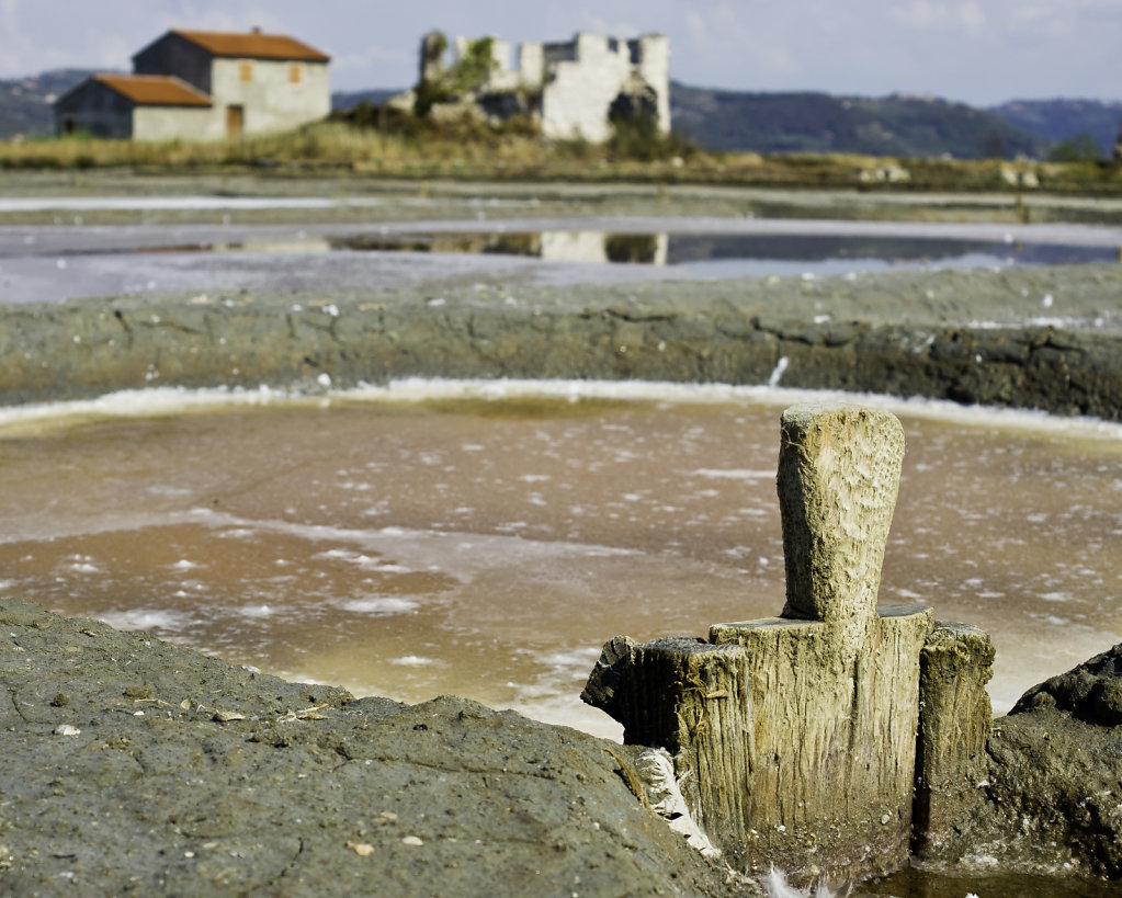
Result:
<svg viewBox="0 0 1122 898"><path fill-rule="evenodd" d="M1050 141L946 100L741 93L670 85L673 127L714 150L859 152L959 159L1043 156Z"/></svg>

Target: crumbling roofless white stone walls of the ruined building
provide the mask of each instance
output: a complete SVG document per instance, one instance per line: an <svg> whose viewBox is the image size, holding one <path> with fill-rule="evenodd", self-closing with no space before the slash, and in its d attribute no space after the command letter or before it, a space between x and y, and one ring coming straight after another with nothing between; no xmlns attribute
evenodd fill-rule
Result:
<svg viewBox="0 0 1122 898"><path fill-rule="evenodd" d="M610 136L611 112L642 110L654 117L661 132L670 131L670 41L663 35L618 40L578 34L559 44L527 40L519 45L514 67L507 41L484 40L490 47L490 72L468 100L490 118L527 112L540 120L548 138L601 142ZM465 59L476 44L458 37L456 61ZM447 71L443 49L439 35L425 37L422 81L438 81Z"/></svg>

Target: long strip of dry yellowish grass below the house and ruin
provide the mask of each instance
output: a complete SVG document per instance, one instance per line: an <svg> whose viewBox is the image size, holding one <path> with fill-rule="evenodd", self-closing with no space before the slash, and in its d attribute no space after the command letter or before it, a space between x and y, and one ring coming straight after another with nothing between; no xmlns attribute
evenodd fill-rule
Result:
<svg viewBox="0 0 1122 898"><path fill-rule="evenodd" d="M469 122L416 132L323 122L298 131L241 140L142 142L63 138L0 144L0 168L130 168L192 173L277 170L297 174L366 174L401 178L634 180L1017 192L1010 173L1030 173L1039 189L1122 194L1122 169L1094 164L877 159L855 155L760 156L712 154L681 145L628 157L619 147L582 141L546 142L530 129L493 130ZM651 155L651 154L647 154ZM891 180L888 169L907 173Z"/></svg>

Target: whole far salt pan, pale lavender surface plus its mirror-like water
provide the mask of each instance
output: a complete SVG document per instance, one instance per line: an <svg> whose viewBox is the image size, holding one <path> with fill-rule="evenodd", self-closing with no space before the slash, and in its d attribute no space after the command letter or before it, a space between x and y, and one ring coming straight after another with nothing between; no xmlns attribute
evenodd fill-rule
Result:
<svg viewBox="0 0 1122 898"><path fill-rule="evenodd" d="M0 303L178 290L596 284L1119 261L1122 229L636 219L0 226Z"/></svg>

